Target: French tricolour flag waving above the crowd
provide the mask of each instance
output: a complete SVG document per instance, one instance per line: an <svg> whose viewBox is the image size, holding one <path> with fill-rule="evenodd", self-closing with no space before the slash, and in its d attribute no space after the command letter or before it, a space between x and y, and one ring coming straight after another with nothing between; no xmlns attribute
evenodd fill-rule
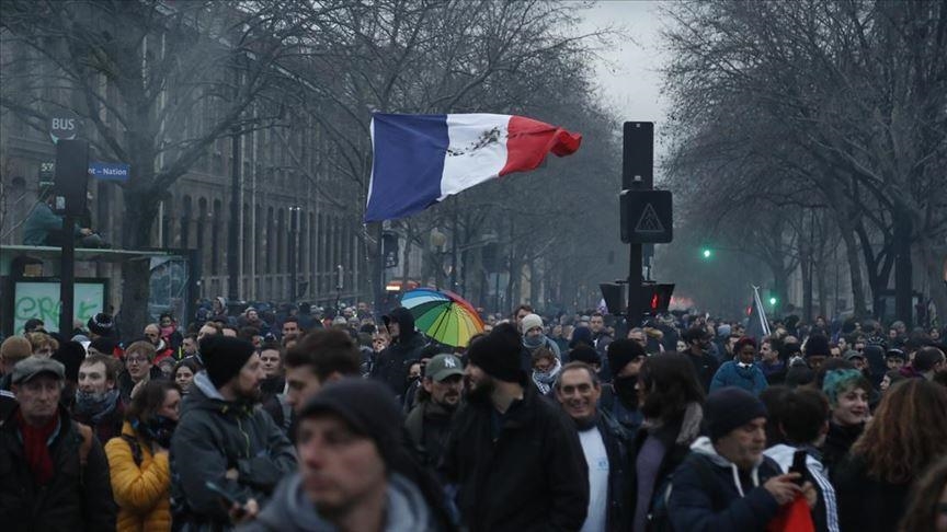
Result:
<svg viewBox="0 0 947 532"><path fill-rule="evenodd" d="M569 155L582 136L513 115L372 117L372 183L365 221L403 218L487 180Z"/></svg>

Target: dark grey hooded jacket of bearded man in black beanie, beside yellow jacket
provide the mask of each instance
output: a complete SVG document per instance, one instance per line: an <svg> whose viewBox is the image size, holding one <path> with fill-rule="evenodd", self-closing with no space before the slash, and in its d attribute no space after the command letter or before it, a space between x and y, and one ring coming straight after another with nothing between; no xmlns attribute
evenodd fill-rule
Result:
<svg viewBox="0 0 947 532"><path fill-rule="evenodd" d="M226 478L236 470L236 481ZM228 402L205 371L194 377L171 438L174 527L229 530L230 520L207 481L238 498L265 504L279 479L296 471L293 446L260 405Z"/></svg>

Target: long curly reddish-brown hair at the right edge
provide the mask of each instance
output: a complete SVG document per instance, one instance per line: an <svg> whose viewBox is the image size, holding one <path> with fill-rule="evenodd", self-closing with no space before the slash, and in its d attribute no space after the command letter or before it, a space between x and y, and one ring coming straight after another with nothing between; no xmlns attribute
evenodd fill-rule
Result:
<svg viewBox="0 0 947 532"><path fill-rule="evenodd" d="M947 389L925 379L908 379L881 397L875 417L852 446L865 460L868 476L901 484L947 454Z"/></svg>

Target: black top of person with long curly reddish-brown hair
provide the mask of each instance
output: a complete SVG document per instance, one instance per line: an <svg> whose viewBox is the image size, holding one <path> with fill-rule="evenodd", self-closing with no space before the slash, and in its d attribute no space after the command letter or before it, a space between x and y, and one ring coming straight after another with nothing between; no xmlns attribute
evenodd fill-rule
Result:
<svg viewBox="0 0 947 532"><path fill-rule="evenodd" d="M832 471L832 483L838 496L838 525L843 532L888 532L908 507L911 483L894 484L868 474L868 464L849 455Z"/></svg>

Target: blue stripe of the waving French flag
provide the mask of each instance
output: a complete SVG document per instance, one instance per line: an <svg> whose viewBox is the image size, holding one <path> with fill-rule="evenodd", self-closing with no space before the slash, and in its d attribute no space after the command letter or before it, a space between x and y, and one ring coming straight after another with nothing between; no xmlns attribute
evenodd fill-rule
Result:
<svg viewBox="0 0 947 532"><path fill-rule="evenodd" d="M372 192L365 221L391 220L423 210L441 197L447 152L447 115L373 117Z"/></svg>

